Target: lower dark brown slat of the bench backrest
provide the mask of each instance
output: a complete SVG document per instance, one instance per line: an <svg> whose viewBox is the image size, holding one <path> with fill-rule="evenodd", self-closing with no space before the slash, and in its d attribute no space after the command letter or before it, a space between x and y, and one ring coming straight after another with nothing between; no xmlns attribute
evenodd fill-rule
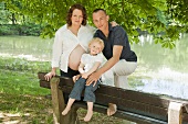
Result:
<svg viewBox="0 0 188 124"><path fill-rule="evenodd" d="M72 90L72 87L63 86L61 87L63 92L70 93ZM96 95L96 102L95 104L103 104L105 106L108 105L113 101L113 103L117 104L118 110L127 111L127 112L134 112L137 114L146 115L149 117L156 117L159 120L167 121L167 109L166 108L158 108L152 104L145 104L127 99L122 98L115 98L102 93L95 93Z"/></svg>

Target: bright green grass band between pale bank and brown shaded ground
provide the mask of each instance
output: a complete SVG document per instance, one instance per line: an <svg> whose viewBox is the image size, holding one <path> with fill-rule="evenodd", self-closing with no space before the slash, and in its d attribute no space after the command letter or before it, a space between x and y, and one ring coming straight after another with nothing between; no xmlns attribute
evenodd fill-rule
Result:
<svg viewBox="0 0 188 124"><path fill-rule="evenodd" d="M39 86L36 74L0 70L0 92L13 94L46 94Z"/></svg>

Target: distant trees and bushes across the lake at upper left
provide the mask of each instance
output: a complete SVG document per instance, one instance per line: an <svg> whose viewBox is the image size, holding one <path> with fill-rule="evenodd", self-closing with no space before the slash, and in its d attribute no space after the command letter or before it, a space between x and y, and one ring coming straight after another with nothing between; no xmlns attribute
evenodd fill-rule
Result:
<svg viewBox="0 0 188 124"><path fill-rule="evenodd" d="M41 24L32 21L30 16L11 12L6 2L0 2L0 35L40 36L42 32Z"/></svg>

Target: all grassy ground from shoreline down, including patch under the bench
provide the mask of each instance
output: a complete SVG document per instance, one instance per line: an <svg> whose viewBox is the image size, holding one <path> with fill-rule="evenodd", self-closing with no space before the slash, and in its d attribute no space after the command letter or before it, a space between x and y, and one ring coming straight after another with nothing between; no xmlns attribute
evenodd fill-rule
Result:
<svg viewBox="0 0 188 124"><path fill-rule="evenodd" d="M50 64L20 58L0 58L0 123L53 124L49 89L41 88L38 71L49 71ZM77 111L81 124L86 110ZM88 124L129 124L116 117L94 112Z"/></svg>

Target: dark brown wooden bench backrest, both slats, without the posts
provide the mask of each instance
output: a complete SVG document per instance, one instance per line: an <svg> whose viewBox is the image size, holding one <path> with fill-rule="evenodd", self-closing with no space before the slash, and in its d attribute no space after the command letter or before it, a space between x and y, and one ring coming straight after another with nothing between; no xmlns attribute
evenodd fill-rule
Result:
<svg viewBox="0 0 188 124"><path fill-rule="evenodd" d="M40 86L43 88L50 88L50 82L44 80L44 72L38 74ZM72 87L74 86L73 80L66 77L59 78L59 88L62 89L63 92L70 93ZM168 122L168 108L171 101L182 103L185 106L188 104L188 101L186 100L144 93L104 84L100 86L100 88L95 91L95 104L107 106L108 103L115 103L117 104L119 111L126 111L164 122ZM182 108L182 122L188 123L188 113L185 106Z"/></svg>

